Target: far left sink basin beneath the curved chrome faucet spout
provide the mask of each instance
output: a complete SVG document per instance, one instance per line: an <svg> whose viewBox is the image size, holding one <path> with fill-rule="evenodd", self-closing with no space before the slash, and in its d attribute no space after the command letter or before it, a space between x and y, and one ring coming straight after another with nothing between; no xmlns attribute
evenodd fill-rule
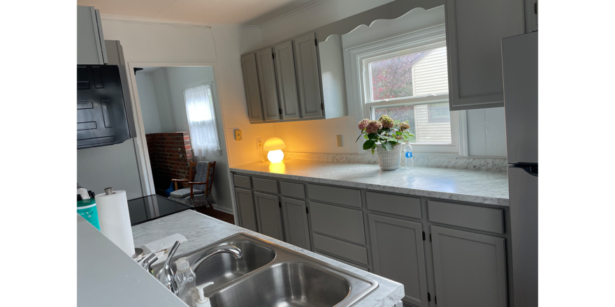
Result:
<svg viewBox="0 0 615 307"><path fill-rule="evenodd" d="M231 254L221 253L211 257L209 260L203 262L201 267L198 267L194 272L194 274L196 274L196 285L203 285L203 283L208 283L210 281L214 283L205 288L205 296L209 296L217 288L263 267L275 258L275 252L270 248L255 244L243 235L236 235L218 241L215 244L205 246L204 248L199 248L190 253L173 257L173 260L171 260L171 268L175 271L175 260L181 257L187 257L188 262L194 263L203 253L219 245L236 246L242 251L243 257L236 259ZM163 266L164 263L152 266L154 276L157 278L164 276Z"/></svg>

